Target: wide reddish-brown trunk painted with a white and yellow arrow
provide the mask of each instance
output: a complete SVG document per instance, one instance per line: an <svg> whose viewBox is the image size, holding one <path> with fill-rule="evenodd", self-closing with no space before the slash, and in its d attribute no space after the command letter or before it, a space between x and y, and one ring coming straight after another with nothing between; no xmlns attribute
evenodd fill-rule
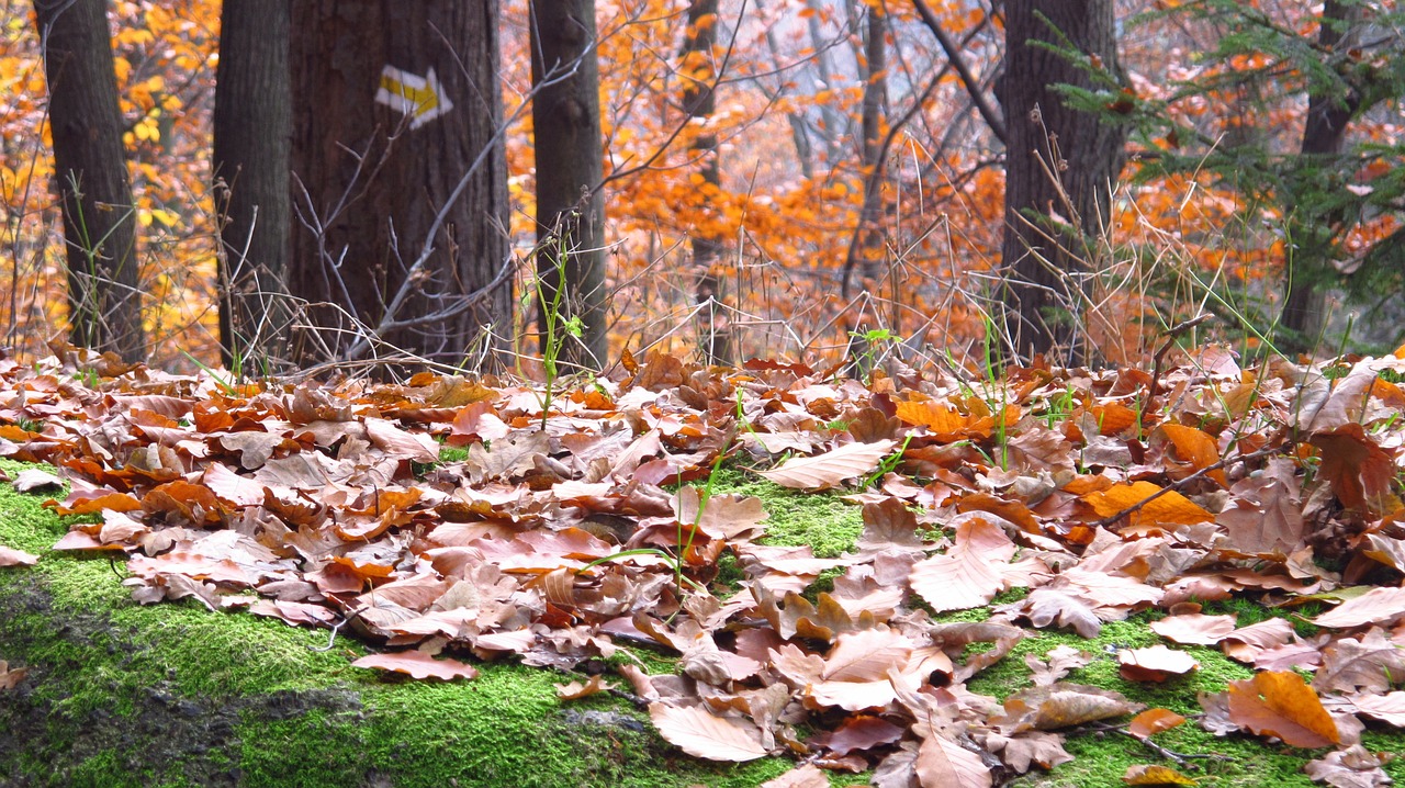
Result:
<svg viewBox="0 0 1405 788"><path fill-rule="evenodd" d="M299 362L459 364L510 330L497 17L493 0L294 3L288 284L320 327L296 331Z"/></svg>

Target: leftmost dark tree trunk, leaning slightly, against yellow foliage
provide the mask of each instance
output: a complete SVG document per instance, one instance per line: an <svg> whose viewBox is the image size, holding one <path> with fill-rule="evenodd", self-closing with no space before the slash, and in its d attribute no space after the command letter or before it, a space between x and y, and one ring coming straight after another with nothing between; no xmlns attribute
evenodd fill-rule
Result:
<svg viewBox="0 0 1405 788"><path fill-rule="evenodd" d="M132 185L105 0L35 0L63 204L73 344L146 358Z"/></svg>

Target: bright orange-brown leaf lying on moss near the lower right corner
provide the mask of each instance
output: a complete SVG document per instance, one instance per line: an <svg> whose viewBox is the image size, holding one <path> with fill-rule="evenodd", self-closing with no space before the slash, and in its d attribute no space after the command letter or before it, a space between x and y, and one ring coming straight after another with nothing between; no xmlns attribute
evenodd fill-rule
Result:
<svg viewBox="0 0 1405 788"><path fill-rule="evenodd" d="M1297 673L1263 671L1231 681L1229 719L1260 736L1277 736L1294 747L1326 747L1342 740L1332 715Z"/></svg>

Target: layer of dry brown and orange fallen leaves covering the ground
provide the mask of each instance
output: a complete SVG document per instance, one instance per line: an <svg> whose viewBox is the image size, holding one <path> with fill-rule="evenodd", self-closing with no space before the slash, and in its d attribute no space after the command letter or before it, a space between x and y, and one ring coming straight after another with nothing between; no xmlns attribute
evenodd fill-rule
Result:
<svg viewBox="0 0 1405 788"><path fill-rule="evenodd" d="M72 492L51 506L93 517L55 549L125 556L138 600L384 645L358 666L472 678L471 657L570 670L621 645L681 655L676 676L624 660L628 688L593 676L561 692L646 704L701 759L792 753L773 785L825 785L819 770L992 785L1068 760L1068 726L1141 712L1128 730L1146 739L1180 725L1064 681L1089 659L1076 649L1031 657L1034 687L1003 702L965 685L1030 626L1093 636L1154 607L1169 643L1256 669L1204 697L1198 725L1335 747L1314 778L1378 785L1361 719L1405 726L1401 357L1243 368L1207 347L1152 374L865 386L653 355L544 402L492 378L230 385L70 353L0 361L0 455L62 469ZM441 462L444 447L464 458ZM767 545L757 499L708 494L722 462L847 493L863 507L854 551ZM722 556L739 583L717 582ZM833 590L804 596L826 570ZM988 621L936 618L1010 589L1028 593ZM1200 611L1236 594L1340 604L1311 638ZM1196 669L1166 646L1118 659L1134 681Z"/></svg>

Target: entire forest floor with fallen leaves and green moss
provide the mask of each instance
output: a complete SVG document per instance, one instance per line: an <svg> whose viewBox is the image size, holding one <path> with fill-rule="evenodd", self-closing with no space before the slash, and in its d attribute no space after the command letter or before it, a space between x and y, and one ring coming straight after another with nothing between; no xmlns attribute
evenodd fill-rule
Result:
<svg viewBox="0 0 1405 788"><path fill-rule="evenodd" d="M0 364L4 785L1405 777L1399 358Z"/></svg>

